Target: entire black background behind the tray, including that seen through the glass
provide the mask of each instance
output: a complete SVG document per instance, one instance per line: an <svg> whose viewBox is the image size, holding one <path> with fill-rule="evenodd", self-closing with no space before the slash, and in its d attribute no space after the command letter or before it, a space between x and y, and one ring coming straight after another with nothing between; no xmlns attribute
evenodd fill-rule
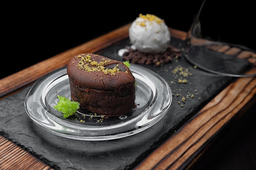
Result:
<svg viewBox="0 0 256 170"><path fill-rule="evenodd" d="M157 15L165 20L167 26L188 31L202 2L160 0L145 1L143 4L132 1L7 4L2 7L6 12L2 15L1 24L4 62L0 67L0 78L128 24L139 13ZM209 0L207 3L204 19L208 27L205 31L254 47L249 43L252 42L255 16L251 9L252 2L234 4L231 0ZM222 26L223 23L228 23L228 26ZM236 32L237 29L240 33Z"/></svg>

